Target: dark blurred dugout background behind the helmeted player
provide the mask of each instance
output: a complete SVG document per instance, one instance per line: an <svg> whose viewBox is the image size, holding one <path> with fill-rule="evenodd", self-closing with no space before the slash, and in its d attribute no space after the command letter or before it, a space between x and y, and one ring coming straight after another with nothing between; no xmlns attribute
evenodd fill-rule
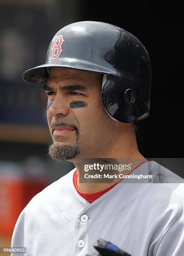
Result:
<svg viewBox="0 0 184 256"><path fill-rule="evenodd" d="M74 168L47 156L45 94L21 79L45 62L53 35L69 23L103 21L139 38L152 64L150 116L138 122L139 150L146 158L183 158L181 10L146 0L0 0L0 246L10 244L33 195ZM171 171L184 177L181 166Z"/></svg>

